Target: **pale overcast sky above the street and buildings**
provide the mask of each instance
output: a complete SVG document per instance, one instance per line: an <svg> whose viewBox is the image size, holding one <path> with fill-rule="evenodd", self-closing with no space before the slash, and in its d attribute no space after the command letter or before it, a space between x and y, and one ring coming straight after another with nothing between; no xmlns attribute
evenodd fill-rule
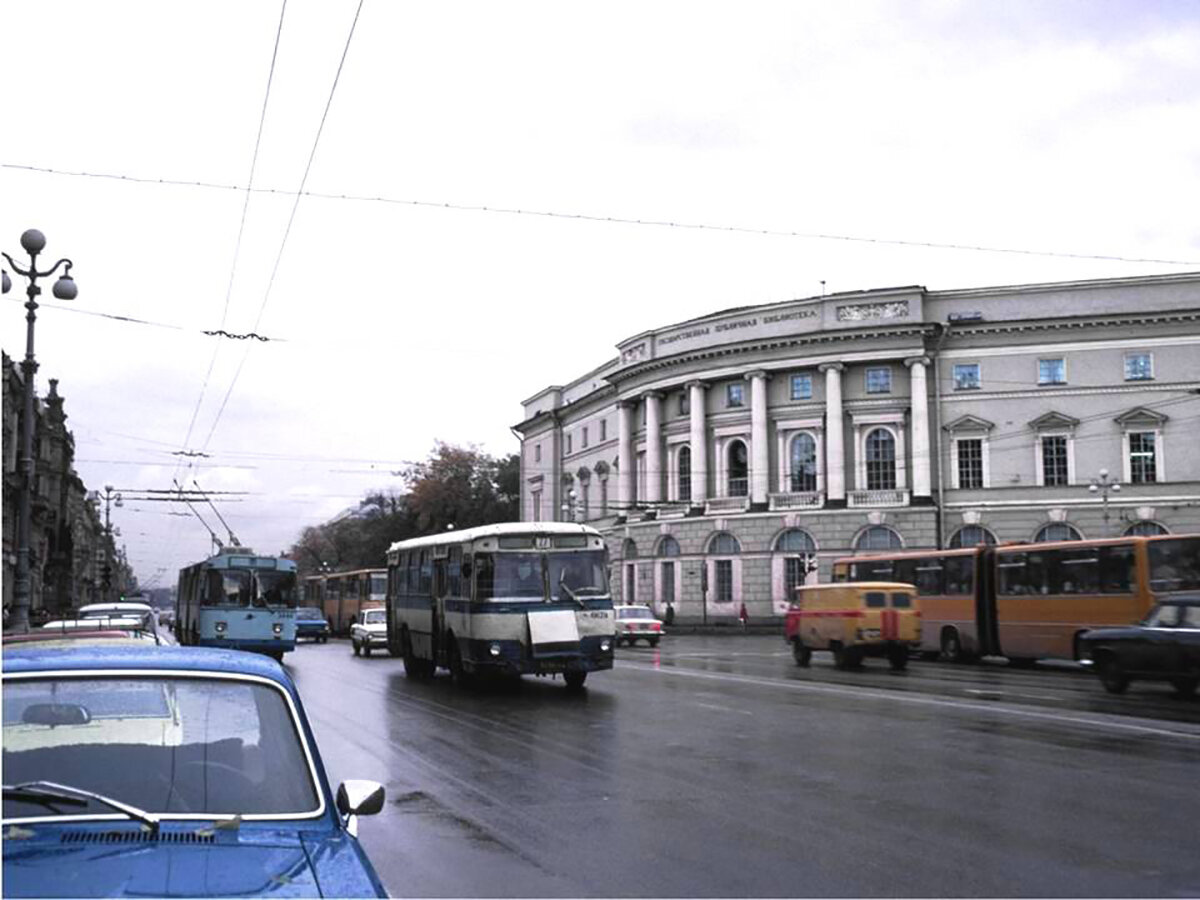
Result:
<svg viewBox="0 0 1200 900"><path fill-rule="evenodd" d="M0 53L0 248L74 262L36 355L78 472L247 491L259 552L436 439L515 452L522 400L649 328L1200 270L1189 0L281 8L7 2ZM144 584L209 553L182 511L114 511Z"/></svg>

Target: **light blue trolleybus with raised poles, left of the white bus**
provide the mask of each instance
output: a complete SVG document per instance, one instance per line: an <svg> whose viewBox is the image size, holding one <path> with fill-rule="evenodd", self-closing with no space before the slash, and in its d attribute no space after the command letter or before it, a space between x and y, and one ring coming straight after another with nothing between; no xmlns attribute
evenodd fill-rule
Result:
<svg viewBox="0 0 1200 900"><path fill-rule="evenodd" d="M179 572L175 636L184 644L265 653L296 644L296 564L224 547Z"/></svg>

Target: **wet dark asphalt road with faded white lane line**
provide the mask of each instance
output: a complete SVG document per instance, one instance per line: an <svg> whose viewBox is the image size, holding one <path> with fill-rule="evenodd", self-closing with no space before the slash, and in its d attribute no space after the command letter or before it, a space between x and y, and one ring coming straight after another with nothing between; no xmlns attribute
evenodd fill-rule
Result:
<svg viewBox="0 0 1200 900"><path fill-rule="evenodd" d="M1200 700L1067 668L794 666L774 636L618 650L584 691L288 654L396 896L1196 896Z"/></svg>

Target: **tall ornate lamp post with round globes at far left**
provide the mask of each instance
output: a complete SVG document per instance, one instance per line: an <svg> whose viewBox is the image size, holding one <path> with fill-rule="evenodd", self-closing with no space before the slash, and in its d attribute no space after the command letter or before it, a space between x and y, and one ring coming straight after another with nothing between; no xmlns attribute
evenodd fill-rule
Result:
<svg viewBox="0 0 1200 900"><path fill-rule="evenodd" d="M25 634L29 631L29 606L32 599L34 584L29 570L29 550L34 532L34 376L37 373L37 361L34 359L34 322L37 319L37 296L42 289L38 278L48 278L64 266L62 275L54 282L54 296L59 300L74 300L77 288L71 280L71 260L60 259L46 271L37 270L37 254L46 248L46 235L36 228L30 228L20 235L20 246L29 253L29 268L23 269L7 253L0 256L8 262L17 275L29 280L25 288L25 359L20 364L25 378L25 414L20 420L20 466L19 490L17 494L17 577L13 583L12 628ZM4 271L4 293L12 289L12 280Z"/></svg>

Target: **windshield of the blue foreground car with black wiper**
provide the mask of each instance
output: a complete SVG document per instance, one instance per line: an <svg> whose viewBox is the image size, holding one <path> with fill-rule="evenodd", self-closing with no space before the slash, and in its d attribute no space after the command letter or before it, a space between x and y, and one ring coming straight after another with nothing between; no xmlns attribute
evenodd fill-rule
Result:
<svg viewBox="0 0 1200 900"><path fill-rule="evenodd" d="M284 694L234 678L5 678L4 780L53 781L155 814L319 808ZM20 793L4 800L5 820L109 811Z"/></svg>

